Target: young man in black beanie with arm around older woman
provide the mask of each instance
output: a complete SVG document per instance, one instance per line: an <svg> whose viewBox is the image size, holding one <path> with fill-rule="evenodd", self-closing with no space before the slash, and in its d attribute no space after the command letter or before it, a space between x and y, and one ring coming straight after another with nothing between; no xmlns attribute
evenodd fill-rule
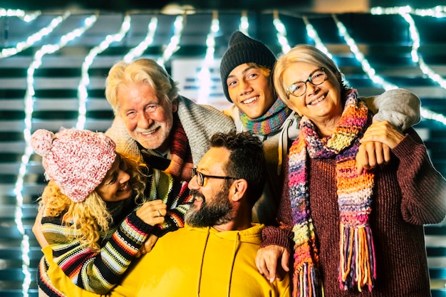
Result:
<svg viewBox="0 0 446 297"><path fill-rule="evenodd" d="M271 225L276 224L274 197L281 195L281 160L299 135L299 117L275 94L271 81L275 63L274 53L264 43L240 31L232 34L220 63L224 95L234 103L224 113L234 120L237 131L250 131L264 142L269 179L253 214L257 222ZM400 130L420 120L420 99L408 90L389 90L363 99L375 113L373 120L387 120ZM374 142L364 144L363 149L363 155L358 154L358 166L385 162L383 150L375 149Z"/></svg>

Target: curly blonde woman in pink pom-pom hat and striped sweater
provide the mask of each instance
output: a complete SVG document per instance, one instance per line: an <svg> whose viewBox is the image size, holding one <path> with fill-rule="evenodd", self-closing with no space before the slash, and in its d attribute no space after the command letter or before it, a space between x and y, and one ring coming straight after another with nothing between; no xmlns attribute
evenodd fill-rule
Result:
<svg viewBox="0 0 446 297"><path fill-rule="evenodd" d="M188 206L187 184L119 155L103 133L37 130L31 145L49 180L39 202L41 222L33 226L44 253L41 295L70 296L53 286L51 279L61 278L54 271L85 291L107 293L150 234L180 227L166 222L178 204Z"/></svg>

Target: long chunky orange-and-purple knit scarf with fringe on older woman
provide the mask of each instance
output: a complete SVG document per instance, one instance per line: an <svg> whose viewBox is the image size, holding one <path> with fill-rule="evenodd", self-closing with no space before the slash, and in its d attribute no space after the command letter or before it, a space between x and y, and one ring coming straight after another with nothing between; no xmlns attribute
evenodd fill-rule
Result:
<svg viewBox="0 0 446 297"><path fill-rule="evenodd" d="M294 292L293 296L323 296L318 276L318 248L311 219L308 190L307 154L311 158L336 160L336 184L340 212L341 289L364 286L372 290L375 278L375 249L368 224L371 212L374 174L356 171L356 154L363 131L371 117L356 90L349 90L346 105L336 130L330 137L319 138L316 127L308 118L300 122L300 135L289 152L289 191L294 231Z"/></svg>

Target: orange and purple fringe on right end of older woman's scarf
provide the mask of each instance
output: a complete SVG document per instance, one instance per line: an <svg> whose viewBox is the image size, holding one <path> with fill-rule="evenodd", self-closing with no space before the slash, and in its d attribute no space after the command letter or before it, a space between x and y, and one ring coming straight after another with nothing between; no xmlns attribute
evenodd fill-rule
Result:
<svg viewBox="0 0 446 297"><path fill-rule="evenodd" d="M370 226L345 226L341 224L341 255L339 281L341 289L357 286L358 291L375 285L375 246Z"/></svg>

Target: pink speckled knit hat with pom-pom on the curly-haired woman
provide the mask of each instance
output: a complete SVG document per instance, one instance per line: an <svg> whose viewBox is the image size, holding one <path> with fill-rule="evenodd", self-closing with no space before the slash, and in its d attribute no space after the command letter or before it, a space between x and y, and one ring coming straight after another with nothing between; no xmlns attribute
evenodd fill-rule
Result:
<svg viewBox="0 0 446 297"><path fill-rule="evenodd" d="M48 179L73 202L83 202L103 181L115 162L115 142L103 133L39 129L31 136L33 150L43 157Z"/></svg>

